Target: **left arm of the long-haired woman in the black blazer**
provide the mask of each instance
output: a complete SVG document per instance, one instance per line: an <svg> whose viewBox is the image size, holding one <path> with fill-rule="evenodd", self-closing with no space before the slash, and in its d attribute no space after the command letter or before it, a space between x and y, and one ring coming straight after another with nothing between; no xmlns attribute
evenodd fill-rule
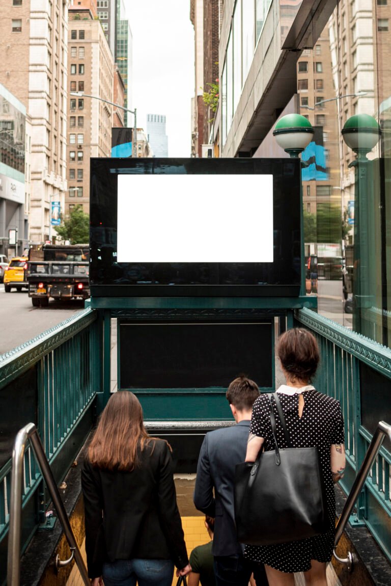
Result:
<svg viewBox="0 0 391 586"><path fill-rule="evenodd" d="M85 461L81 470L81 489L84 500L85 552L87 553L88 576L94 586L101 583L102 561L94 560L95 541L103 520L103 496L100 483L95 478L91 464Z"/></svg>

